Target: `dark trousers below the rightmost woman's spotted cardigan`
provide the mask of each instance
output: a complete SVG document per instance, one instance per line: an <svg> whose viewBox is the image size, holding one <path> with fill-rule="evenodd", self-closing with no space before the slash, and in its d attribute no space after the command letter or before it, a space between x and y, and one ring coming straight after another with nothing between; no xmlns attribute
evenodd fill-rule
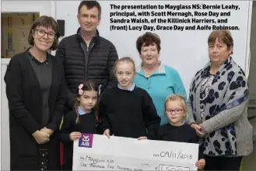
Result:
<svg viewBox="0 0 256 171"><path fill-rule="evenodd" d="M238 157L223 157L223 156L205 156L205 171L206 170L237 170L240 169L242 156Z"/></svg>

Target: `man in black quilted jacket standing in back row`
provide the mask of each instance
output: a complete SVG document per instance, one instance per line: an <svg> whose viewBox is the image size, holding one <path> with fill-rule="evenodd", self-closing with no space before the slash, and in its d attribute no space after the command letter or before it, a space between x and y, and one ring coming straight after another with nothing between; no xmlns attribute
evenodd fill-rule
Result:
<svg viewBox="0 0 256 171"><path fill-rule="evenodd" d="M113 43L99 35L101 7L96 1L82 1L77 19L80 28L75 35L65 37L59 43L56 56L65 70L67 85L66 104L71 110L75 103L75 90L81 80L94 80L103 93L105 88L117 86L112 67L118 59Z"/></svg>

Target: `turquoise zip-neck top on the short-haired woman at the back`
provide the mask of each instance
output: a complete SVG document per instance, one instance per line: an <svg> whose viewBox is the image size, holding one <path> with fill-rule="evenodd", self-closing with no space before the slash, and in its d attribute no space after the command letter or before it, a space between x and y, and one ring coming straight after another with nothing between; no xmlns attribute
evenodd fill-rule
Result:
<svg viewBox="0 0 256 171"><path fill-rule="evenodd" d="M134 78L137 87L146 90L153 99L157 114L161 118L160 125L168 123L164 114L164 101L170 94L180 94L187 99L186 90L177 70L167 65L160 64L149 78L146 77L142 67L137 68L137 74Z"/></svg>

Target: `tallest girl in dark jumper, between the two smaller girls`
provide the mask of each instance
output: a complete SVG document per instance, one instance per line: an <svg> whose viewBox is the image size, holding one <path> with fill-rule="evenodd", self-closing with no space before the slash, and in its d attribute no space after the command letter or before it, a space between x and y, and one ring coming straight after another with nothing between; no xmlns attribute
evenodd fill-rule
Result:
<svg viewBox="0 0 256 171"><path fill-rule="evenodd" d="M156 139L160 117L152 98L132 82L135 63L124 57L114 65L117 87L107 89L100 98L99 118L103 135L134 139Z"/></svg>

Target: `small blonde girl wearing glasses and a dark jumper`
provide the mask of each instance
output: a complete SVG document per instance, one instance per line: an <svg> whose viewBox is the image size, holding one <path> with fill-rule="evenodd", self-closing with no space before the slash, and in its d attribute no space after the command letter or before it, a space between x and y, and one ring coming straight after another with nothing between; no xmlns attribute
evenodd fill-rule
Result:
<svg viewBox="0 0 256 171"><path fill-rule="evenodd" d="M197 143L197 135L190 125L183 124L184 118L187 117L187 106L184 97L173 94L167 97L164 102L165 114L169 123L161 125L158 132L158 140L168 142L187 142ZM195 166L198 169L205 167L205 159L199 150L198 162Z"/></svg>

